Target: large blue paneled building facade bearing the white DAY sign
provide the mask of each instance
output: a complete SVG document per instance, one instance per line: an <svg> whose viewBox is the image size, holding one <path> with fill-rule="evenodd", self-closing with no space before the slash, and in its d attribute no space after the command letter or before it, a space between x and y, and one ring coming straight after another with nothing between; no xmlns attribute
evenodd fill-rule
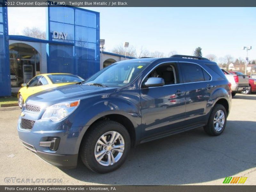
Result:
<svg viewBox="0 0 256 192"><path fill-rule="evenodd" d="M47 8L48 40L73 43L47 46L47 71L68 72L88 78L100 70L100 13L77 7ZM53 38L53 31L67 33Z"/></svg>

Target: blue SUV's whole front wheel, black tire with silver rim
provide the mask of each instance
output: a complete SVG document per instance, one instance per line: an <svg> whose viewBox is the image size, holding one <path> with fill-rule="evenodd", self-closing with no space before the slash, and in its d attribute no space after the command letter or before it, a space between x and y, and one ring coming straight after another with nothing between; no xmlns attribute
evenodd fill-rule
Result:
<svg viewBox="0 0 256 192"><path fill-rule="evenodd" d="M124 147L113 147L111 138L113 135L117 136L117 133L120 136L114 140L114 146L123 145ZM110 120L100 121L92 125L88 133L85 134L80 147L80 157L87 168L98 173L108 173L115 171L124 163L131 147L131 139L122 124ZM100 138L104 138L105 142ZM117 150L123 150L123 153Z"/></svg>

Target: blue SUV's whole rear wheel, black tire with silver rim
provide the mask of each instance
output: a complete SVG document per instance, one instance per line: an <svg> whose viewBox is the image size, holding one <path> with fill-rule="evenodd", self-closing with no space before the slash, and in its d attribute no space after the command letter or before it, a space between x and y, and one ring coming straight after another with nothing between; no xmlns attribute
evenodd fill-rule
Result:
<svg viewBox="0 0 256 192"><path fill-rule="evenodd" d="M216 119L218 119L217 112L219 112L219 111L220 111L220 114L219 114L220 117L222 115L224 115L224 117L219 120L220 123L218 123L218 120L217 120L217 122L215 120L215 117L216 117ZM216 122L216 123L214 123L214 122ZM223 105L216 104L212 109L212 112L209 117L207 125L204 126L204 131L211 136L220 135L226 127L226 122L227 122L226 108ZM218 126L217 126L217 124L218 124ZM221 124L222 124L222 127L221 127Z"/></svg>

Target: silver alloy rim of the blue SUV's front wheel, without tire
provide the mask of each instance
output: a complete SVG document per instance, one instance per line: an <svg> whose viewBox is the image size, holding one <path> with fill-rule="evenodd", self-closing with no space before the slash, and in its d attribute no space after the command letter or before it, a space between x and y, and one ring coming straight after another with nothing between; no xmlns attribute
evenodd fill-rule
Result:
<svg viewBox="0 0 256 192"><path fill-rule="evenodd" d="M124 138L116 132L104 133L97 141L94 156L97 162L103 166L110 166L120 160L124 153Z"/></svg>

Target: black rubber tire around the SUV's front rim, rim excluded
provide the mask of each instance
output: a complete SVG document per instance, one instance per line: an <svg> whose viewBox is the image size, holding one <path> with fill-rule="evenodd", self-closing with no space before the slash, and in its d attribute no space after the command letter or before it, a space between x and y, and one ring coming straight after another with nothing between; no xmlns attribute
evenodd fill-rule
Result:
<svg viewBox="0 0 256 192"><path fill-rule="evenodd" d="M97 132L94 132L94 134L90 135L90 138L88 138L86 140L87 142L87 149L86 149L86 153L84 154L86 156L87 159L87 163L89 165L89 168L94 171L94 172L98 172L98 173L107 173L107 172L112 172L116 169L118 169L126 160L129 150L130 150L130 146L131 146L131 140L130 140L130 135L127 132L127 130L125 129L125 127L122 124L119 124L117 122L112 122L112 121L106 121L106 122L102 122L103 125L99 124L99 129L97 129L97 126L94 127L94 129L97 129ZM96 142L98 141L98 139L106 132L109 131L116 131L118 133L120 133L122 135L122 137L124 138L124 153L122 155L122 157L113 165L110 166L103 166L101 164L99 164L94 156L94 149L95 149L95 145ZM86 133L85 133L86 134ZM82 149L83 150L83 149ZM82 157L83 158L83 157ZM82 159L83 161L83 159Z"/></svg>

